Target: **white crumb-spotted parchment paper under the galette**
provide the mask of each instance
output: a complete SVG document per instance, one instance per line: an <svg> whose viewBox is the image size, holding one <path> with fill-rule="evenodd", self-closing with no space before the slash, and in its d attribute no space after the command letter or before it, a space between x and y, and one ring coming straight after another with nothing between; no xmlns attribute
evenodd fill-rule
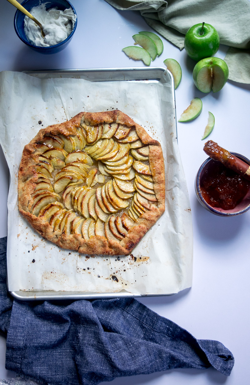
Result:
<svg viewBox="0 0 250 385"><path fill-rule="evenodd" d="M69 75L70 76L70 75ZM0 73L0 143L10 169L8 288L172 294L191 286L193 234L168 73L160 82L89 82ZM166 211L130 256L85 256L43 239L18 211L23 147L39 129L81 111L119 109L162 146ZM39 124L42 121L42 124Z"/></svg>

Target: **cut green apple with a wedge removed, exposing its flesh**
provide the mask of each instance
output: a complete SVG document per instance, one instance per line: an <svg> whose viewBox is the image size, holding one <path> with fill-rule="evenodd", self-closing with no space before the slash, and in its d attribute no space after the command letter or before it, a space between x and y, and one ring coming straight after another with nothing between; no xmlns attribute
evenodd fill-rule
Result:
<svg viewBox="0 0 250 385"><path fill-rule="evenodd" d="M207 57L196 63L193 70L193 81L201 92L218 92L228 79L228 66L218 57Z"/></svg>

